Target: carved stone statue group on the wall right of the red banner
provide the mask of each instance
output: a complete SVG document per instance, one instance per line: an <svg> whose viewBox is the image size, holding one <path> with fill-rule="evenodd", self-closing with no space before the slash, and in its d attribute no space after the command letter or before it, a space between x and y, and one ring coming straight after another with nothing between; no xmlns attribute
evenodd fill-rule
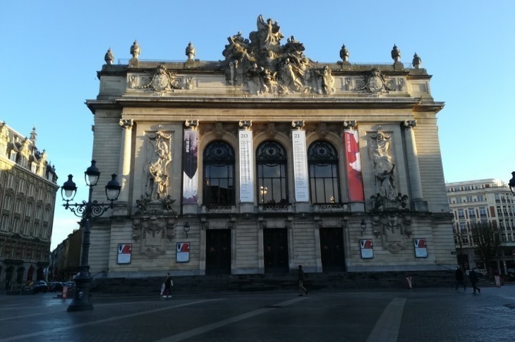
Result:
<svg viewBox="0 0 515 342"><path fill-rule="evenodd" d="M390 135L377 130L370 135L369 154L372 159L374 176L379 181L381 197L387 200L396 200L395 164L390 149L392 138Z"/></svg>

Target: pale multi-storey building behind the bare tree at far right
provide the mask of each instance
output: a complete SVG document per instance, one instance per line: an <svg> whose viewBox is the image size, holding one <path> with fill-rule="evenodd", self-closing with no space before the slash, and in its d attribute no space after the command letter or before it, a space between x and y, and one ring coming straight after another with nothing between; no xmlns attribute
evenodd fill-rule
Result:
<svg viewBox="0 0 515 342"><path fill-rule="evenodd" d="M473 225L489 222L501 236L499 256L490 265L498 274L515 272L515 197L509 186L497 179L447 183L447 199L454 215L454 237L459 264L464 269L486 265L475 256Z"/></svg>

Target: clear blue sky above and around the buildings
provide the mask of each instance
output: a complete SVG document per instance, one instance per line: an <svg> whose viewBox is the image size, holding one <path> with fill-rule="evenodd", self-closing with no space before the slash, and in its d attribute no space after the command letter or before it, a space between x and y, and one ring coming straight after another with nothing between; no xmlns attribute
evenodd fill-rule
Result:
<svg viewBox="0 0 515 342"><path fill-rule="evenodd" d="M86 199L93 116L84 102L99 90L97 71L111 47L129 59L223 59L226 38L256 30L257 16L277 20L305 55L351 63L392 63L416 52L433 75L431 92L445 107L437 115L447 182L509 181L513 152L515 1L0 1L0 121L29 135L56 166L59 185L75 175L76 199ZM285 43L285 39L282 42ZM102 171L102 165L98 165ZM52 248L78 228L58 194Z"/></svg>

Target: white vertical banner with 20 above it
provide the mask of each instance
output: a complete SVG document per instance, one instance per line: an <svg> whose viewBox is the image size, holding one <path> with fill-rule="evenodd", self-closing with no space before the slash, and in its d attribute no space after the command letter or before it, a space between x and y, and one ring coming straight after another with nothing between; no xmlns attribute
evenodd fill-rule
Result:
<svg viewBox="0 0 515 342"><path fill-rule="evenodd" d="M252 130L239 130L240 202L254 202Z"/></svg>

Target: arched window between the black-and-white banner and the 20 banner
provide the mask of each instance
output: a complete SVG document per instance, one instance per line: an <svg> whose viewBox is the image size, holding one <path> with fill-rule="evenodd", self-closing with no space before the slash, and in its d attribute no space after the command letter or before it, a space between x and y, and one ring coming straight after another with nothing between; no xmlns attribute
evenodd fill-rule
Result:
<svg viewBox="0 0 515 342"><path fill-rule="evenodd" d="M233 205L234 149L227 142L211 142L204 150L204 197L205 206Z"/></svg>

